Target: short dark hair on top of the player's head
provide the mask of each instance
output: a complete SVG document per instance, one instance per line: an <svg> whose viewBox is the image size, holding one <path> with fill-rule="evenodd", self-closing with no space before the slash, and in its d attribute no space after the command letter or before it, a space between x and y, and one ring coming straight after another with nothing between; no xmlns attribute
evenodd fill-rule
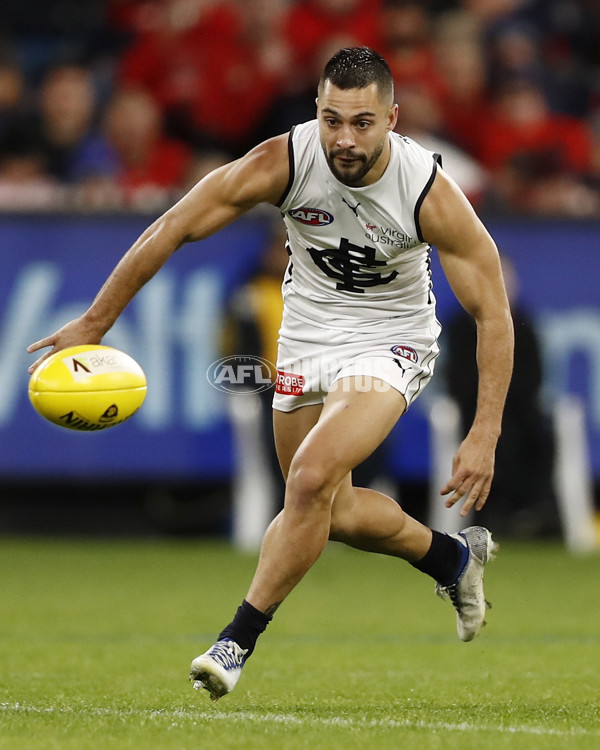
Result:
<svg viewBox="0 0 600 750"><path fill-rule="evenodd" d="M394 79L386 60L370 47L344 47L325 65L319 93L325 81L339 89L363 89L377 84L381 99L394 100Z"/></svg>

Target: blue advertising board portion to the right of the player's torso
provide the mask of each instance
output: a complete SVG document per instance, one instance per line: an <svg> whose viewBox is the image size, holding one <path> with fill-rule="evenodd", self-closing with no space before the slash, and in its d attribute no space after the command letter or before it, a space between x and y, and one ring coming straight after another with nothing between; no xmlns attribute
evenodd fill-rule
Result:
<svg viewBox="0 0 600 750"><path fill-rule="evenodd" d="M544 402L569 393L582 399L590 460L600 478L600 223L532 219L486 222L501 253L515 267L519 302L533 319L544 364ZM438 318L444 326L459 309L432 255ZM444 357L444 332L441 336ZM434 377L400 420L388 451L400 477L422 479L429 469L428 400L443 384Z"/></svg>

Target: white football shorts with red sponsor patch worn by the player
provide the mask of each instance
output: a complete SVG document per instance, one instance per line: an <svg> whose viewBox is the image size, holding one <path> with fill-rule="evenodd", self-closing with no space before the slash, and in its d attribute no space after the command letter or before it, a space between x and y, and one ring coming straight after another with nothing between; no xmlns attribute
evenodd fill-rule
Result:
<svg viewBox="0 0 600 750"><path fill-rule="evenodd" d="M354 385L359 389L391 386L408 407L431 380L440 331L435 318L411 331L382 327L378 321L371 329L367 325L360 332L348 332L288 315L279 336L273 408L293 411L322 404L333 384L347 377L358 378Z"/></svg>

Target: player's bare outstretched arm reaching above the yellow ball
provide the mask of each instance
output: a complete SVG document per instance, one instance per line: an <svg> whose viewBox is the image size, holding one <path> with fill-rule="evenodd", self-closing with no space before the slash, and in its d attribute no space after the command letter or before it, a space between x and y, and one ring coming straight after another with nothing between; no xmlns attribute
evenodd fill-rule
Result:
<svg viewBox="0 0 600 750"><path fill-rule="evenodd" d="M137 292L187 242L209 237L259 203L275 204L289 178L287 136L277 136L219 167L151 224L112 271L80 317L27 347L51 347L29 368L67 346L99 344Z"/></svg>

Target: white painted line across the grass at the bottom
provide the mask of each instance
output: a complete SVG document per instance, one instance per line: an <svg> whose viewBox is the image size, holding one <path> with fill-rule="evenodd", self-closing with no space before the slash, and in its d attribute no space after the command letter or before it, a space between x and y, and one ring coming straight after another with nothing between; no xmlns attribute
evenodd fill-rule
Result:
<svg viewBox="0 0 600 750"><path fill-rule="evenodd" d="M294 726L332 726L347 727L349 729L431 729L448 732L497 732L498 734L524 734L553 737L600 737L600 729L586 729L585 727L571 727L570 729L555 729L552 727L541 727L534 725L490 725L472 724L469 722L447 722L447 721L422 721L418 719L351 719L348 717L318 718L310 716L296 716L286 713L257 713L254 711L203 711L196 709L176 710L136 710L126 709L119 711L114 708L70 708L66 706L33 706L23 703L0 703L0 712L10 713L34 713L34 714L83 714L91 716L114 716L123 718L126 716L140 718L166 719L189 719L224 721L224 722L246 722L252 721L257 724L282 724Z"/></svg>

